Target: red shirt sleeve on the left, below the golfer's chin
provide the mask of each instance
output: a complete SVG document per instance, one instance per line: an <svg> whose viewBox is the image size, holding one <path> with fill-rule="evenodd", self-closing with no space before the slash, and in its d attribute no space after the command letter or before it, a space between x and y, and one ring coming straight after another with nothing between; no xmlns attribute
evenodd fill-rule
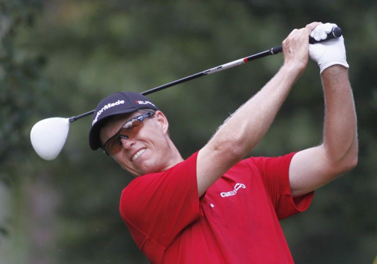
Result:
<svg viewBox="0 0 377 264"><path fill-rule="evenodd" d="M200 215L197 153L161 173L140 176L123 189L120 214L135 242L165 247Z"/></svg>

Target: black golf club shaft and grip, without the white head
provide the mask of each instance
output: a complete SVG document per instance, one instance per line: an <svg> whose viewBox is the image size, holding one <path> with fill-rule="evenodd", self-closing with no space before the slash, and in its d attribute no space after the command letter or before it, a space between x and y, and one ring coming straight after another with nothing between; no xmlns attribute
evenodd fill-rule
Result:
<svg viewBox="0 0 377 264"><path fill-rule="evenodd" d="M336 28L333 28L332 31L327 34L327 38L326 39L317 41L317 40L315 40L315 39L313 39L313 38L310 37L309 38L309 43L310 44L314 44L314 43L318 43L318 42L323 42L323 41L326 41L326 40L329 40L329 39L332 39L332 38L340 37L341 35L342 35L341 28L336 27ZM157 92L157 91L160 91L160 90L163 90L163 89L175 86L175 85L179 85L179 84L185 83L185 82L187 82L189 80L193 80L193 79L199 78L199 77L204 76L204 75L208 75L208 74L212 74L212 73L215 73L215 72L223 71L223 70L226 70L226 69L229 69L229 68L232 68L232 67L244 64L244 63L251 62L252 60L255 60L255 59L258 59L258 58L263 58L263 57L269 56L269 55L276 55L276 54L278 54L278 53L280 53L282 51L283 51L283 47L280 45L280 46L271 48L269 50L266 50L266 51L263 51L263 52L260 52L260 53L248 56L248 57L236 59L236 60L234 60L233 62L230 62L230 63L226 63L226 64L223 64L223 65L220 65L220 66L217 66L217 67L214 67L214 68L202 71L202 72L195 73L193 75L190 75L190 76L187 76L187 77L175 80L175 81L173 81L171 83L167 83L167 84L155 87L155 88L150 89L148 91L144 91L141 94L142 95L151 94L151 93L154 93L154 92ZM70 123L72 123L73 121L76 121L77 119L80 119L82 117L91 115L94 112L95 112L95 110L92 110L92 111L89 111L89 112L86 112L86 113L83 113L83 114L80 114L80 115L72 116L71 118L69 118L69 121L70 121Z"/></svg>

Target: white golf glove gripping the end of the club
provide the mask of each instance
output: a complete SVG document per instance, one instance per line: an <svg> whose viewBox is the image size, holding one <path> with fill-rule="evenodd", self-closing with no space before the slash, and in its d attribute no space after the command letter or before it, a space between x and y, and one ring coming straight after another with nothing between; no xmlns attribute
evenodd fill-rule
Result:
<svg viewBox="0 0 377 264"><path fill-rule="evenodd" d="M311 31L310 36L316 40L326 39L327 33L330 33L334 27L337 27L337 25L331 23L320 24ZM309 56L318 63L320 73L335 64L349 68L343 36L321 43L309 44Z"/></svg>

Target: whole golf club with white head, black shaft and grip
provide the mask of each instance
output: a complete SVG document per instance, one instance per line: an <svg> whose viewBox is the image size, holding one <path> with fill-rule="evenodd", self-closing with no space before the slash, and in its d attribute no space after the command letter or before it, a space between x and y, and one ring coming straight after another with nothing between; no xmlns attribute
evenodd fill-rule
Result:
<svg viewBox="0 0 377 264"><path fill-rule="evenodd" d="M340 37L341 35L342 35L342 30L339 27L335 27L332 29L330 33L327 34L326 39L317 41L314 38L310 37L309 43L314 44L318 42L323 42L332 38ZM232 68L232 67L250 62L254 59L262 58L268 55L276 55L282 51L283 51L283 48L280 45L280 46L271 48L269 50L266 50L266 51L263 51L254 55L237 59L237 60L234 60L233 62L226 63L223 65L217 66L215 68L211 68L211 69L198 72L196 74L175 80L174 82L155 87L151 90L142 92L141 94L143 95L151 94L151 93L160 91L162 89L169 88L169 87L187 82L192 79L196 79L203 75L212 74L215 72L219 72L228 68ZM70 123L82 117L91 115L94 113L94 111L95 110L92 110L92 111L89 111L80 115L72 116L70 118L51 117L51 118L38 121L38 123L36 123L30 131L30 140L31 140L31 144L35 152L41 158L46 159L46 160L52 160L56 158L57 155L59 155L61 149L64 147L64 144L66 143Z"/></svg>

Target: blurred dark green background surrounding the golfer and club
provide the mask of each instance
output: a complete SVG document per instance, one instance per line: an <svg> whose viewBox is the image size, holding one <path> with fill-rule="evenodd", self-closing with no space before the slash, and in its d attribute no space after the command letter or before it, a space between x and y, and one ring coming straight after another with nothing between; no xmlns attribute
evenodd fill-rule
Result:
<svg viewBox="0 0 377 264"><path fill-rule="evenodd" d="M52 161L30 129L116 91L142 92L281 44L312 21L343 30L359 121L358 167L281 221L297 263L372 263L377 254L377 4L373 1L0 0L0 263L148 263L118 213L132 180L71 124ZM149 95L184 157L279 69L283 55ZM323 95L309 65L252 155L321 141ZM200 254L198 252L197 254Z"/></svg>

